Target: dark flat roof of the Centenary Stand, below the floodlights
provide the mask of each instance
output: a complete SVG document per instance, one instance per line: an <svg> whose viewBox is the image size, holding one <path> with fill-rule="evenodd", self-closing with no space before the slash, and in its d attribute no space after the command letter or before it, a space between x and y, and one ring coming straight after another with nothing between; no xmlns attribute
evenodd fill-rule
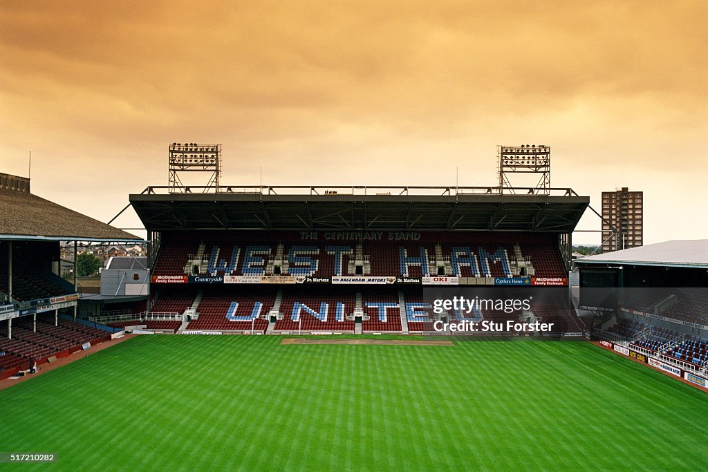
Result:
<svg viewBox="0 0 708 472"><path fill-rule="evenodd" d="M333 188L336 190L326 190ZM560 190L561 195L502 195L489 188L449 187L268 187L251 192L166 195L155 189L130 195L130 203L148 231L406 229L565 233L573 231L590 202L588 197L565 188L552 189Z"/></svg>

